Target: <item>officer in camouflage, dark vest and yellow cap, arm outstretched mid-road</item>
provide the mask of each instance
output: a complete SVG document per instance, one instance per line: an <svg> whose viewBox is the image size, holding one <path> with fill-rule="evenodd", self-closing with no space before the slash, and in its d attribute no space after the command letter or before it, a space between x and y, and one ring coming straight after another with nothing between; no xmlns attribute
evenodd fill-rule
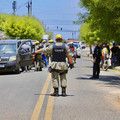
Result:
<svg viewBox="0 0 120 120"><path fill-rule="evenodd" d="M54 92L51 95L59 96L60 81L62 88L62 96L66 96L66 74L68 72L68 63L66 61L66 58L68 57L69 48L63 42L61 34L57 34L55 40L55 43L53 43L51 46L46 48L46 50L44 50L51 56L49 71L51 72L52 85L54 88Z"/></svg>

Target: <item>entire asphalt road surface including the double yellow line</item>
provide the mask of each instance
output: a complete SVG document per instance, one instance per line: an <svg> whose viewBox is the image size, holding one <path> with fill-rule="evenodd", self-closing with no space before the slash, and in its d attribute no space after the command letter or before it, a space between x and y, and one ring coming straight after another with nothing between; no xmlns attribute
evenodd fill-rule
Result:
<svg viewBox="0 0 120 120"><path fill-rule="evenodd" d="M119 72L101 71L100 80L91 80L92 62L82 54L67 75L67 97L50 96L47 69L1 75L0 120L120 120Z"/></svg>

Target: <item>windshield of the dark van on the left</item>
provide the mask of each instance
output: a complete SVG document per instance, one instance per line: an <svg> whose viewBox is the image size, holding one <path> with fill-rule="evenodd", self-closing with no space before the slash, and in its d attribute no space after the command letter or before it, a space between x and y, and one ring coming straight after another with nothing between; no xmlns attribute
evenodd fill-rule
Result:
<svg viewBox="0 0 120 120"><path fill-rule="evenodd" d="M15 54L16 44L0 44L0 54Z"/></svg>

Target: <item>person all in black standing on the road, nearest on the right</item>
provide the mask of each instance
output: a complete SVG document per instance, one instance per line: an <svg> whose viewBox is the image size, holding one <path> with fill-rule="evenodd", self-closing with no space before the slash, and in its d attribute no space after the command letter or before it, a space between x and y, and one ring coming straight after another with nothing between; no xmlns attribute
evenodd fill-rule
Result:
<svg viewBox="0 0 120 120"><path fill-rule="evenodd" d="M101 57L101 47L99 44L97 44L93 53L93 76L91 79L99 79Z"/></svg>

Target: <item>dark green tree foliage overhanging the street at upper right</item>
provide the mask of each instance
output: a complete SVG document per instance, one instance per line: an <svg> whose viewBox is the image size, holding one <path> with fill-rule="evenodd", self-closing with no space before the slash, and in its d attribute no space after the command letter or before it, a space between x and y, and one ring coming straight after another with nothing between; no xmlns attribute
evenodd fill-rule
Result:
<svg viewBox="0 0 120 120"><path fill-rule="evenodd" d="M81 0L80 5L89 13L84 24L89 32L97 31L100 42L120 41L120 0Z"/></svg>

